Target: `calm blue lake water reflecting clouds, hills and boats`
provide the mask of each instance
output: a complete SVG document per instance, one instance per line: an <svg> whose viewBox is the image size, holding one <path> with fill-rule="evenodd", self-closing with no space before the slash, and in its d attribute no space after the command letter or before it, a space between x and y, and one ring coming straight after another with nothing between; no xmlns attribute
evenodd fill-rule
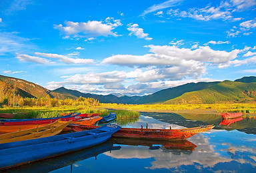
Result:
<svg viewBox="0 0 256 173"><path fill-rule="evenodd" d="M215 124L183 142L109 140L105 144L41 160L7 172L256 172L256 120L223 122L211 114L141 112L126 127L183 128ZM230 124L231 123L231 124ZM45 148L47 149L47 148Z"/></svg>

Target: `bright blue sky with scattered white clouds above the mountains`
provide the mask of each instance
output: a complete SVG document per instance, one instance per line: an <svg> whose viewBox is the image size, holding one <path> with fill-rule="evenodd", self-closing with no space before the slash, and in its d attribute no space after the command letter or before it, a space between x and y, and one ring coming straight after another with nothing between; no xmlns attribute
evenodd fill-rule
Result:
<svg viewBox="0 0 256 173"><path fill-rule="evenodd" d="M0 75L151 94L256 76L256 0L0 1Z"/></svg>

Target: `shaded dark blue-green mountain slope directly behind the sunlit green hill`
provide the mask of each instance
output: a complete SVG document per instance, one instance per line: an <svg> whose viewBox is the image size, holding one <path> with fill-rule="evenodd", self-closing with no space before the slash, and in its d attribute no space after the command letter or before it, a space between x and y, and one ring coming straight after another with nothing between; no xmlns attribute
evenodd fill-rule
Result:
<svg viewBox="0 0 256 173"><path fill-rule="evenodd" d="M217 85L220 82L210 82L210 83L187 83L185 85L176 86L173 88L167 88L159 90L153 94L143 96L142 98L135 101L137 104L147 104L155 102L165 102L167 100L181 96L185 92L191 92L195 90L202 90L213 85Z"/></svg>

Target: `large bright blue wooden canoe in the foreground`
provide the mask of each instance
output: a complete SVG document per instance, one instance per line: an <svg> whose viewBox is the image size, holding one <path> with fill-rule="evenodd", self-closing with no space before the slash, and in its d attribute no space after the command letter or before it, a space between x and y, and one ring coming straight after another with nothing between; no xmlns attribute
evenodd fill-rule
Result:
<svg viewBox="0 0 256 173"><path fill-rule="evenodd" d="M111 135L120 128L121 126L116 124L106 124L97 129L83 132L0 144L0 169L101 144L111 138Z"/></svg>

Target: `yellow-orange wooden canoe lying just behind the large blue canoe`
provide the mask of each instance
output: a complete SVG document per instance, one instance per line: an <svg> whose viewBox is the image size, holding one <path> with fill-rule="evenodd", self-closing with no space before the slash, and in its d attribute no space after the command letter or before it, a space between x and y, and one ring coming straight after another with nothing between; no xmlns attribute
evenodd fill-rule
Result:
<svg viewBox="0 0 256 173"><path fill-rule="evenodd" d="M63 128L65 128L70 121L61 121L57 120L51 124L47 124L46 126L41 126L37 128L32 128L29 130L21 130L17 132L11 132L7 134L0 135L0 144L7 143L7 142L17 142L21 140L29 140L33 138L43 138L48 136L54 136L59 134Z"/></svg>

